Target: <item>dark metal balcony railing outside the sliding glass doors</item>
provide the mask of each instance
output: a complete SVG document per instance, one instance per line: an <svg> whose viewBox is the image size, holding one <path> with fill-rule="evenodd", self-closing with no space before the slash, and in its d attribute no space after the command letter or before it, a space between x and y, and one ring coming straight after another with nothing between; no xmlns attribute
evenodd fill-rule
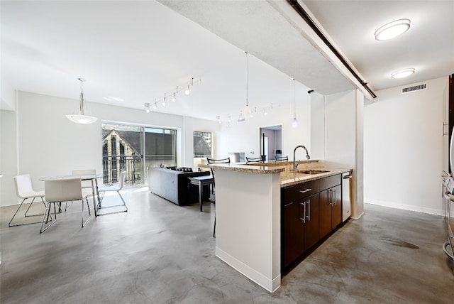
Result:
<svg viewBox="0 0 454 304"><path fill-rule="evenodd" d="M126 184L145 185L147 183L147 174L143 173L143 158L141 156L103 156L103 183L111 185L118 183L120 171L126 171ZM175 156L172 155L146 155L145 170L148 167L157 167L159 165L176 165Z"/></svg>

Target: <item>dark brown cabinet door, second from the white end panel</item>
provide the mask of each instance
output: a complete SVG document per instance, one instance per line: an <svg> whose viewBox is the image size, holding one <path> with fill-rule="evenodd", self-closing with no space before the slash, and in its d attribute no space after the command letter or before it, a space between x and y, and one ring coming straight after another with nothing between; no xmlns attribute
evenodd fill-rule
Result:
<svg viewBox="0 0 454 304"><path fill-rule="evenodd" d="M304 223L304 251L319 241L319 193L304 199L306 221Z"/></svg>

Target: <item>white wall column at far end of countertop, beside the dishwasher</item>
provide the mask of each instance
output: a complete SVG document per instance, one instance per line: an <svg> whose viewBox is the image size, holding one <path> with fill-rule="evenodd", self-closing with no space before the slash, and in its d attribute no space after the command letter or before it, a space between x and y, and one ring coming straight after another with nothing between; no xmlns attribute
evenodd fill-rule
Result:
<svg viewBox="0 0 454 304"><path fill-rule="evenodd" d="M324 96L311 93L311 146L314 158L334 168L353 169L352 217L363 213L362 108L357 89Z"/></svg>

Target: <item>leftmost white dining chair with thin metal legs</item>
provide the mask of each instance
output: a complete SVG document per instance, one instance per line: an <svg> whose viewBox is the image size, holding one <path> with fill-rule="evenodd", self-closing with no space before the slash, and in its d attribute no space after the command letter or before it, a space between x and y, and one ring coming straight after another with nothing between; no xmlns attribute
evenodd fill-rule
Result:
<svg viewBox="0 0 454 304"><path fill-rule="evenodd" d="M31 185L31 178L30 174L23 174L23 175L17 175L14 176L14 185L16 186L16 195L22 199L21 204L17 208L16 212L14 212L13 217L11 217L11 220L9 221L8 226L9 227L14 227L14 226L22 226L26 224L37 224L39 222L31 222L31 223L23 223L23 224L11 224L13 222L14 217L16 217L17 212L19 209L21 209L23 202L25 202L28 199L31 199L30 205L28 206L26 213L24 214L24 217L35 217L39 215L27 215L28 210L30 210L31 205L33 205L33 202L35 201L36 197L40 197L41 201L43 202L44 208L46 208L45 202L43 200L44 197L44 191L35 191L33 190L33 186ZM43 215L43 214L40 214Z"/></svg>

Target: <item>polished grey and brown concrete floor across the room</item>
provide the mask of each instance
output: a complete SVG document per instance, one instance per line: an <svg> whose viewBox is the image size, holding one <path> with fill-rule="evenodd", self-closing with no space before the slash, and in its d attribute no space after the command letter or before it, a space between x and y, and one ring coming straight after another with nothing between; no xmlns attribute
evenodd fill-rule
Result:
<svg viewBox="0 0 454 304"><path fill-rule="evenodd" d="M81 228L74 203L43 234L1 207L0 302L454 303L442 217L365 205L271 294L216 258L214 205L124 193L129 212Z"/></svg>

